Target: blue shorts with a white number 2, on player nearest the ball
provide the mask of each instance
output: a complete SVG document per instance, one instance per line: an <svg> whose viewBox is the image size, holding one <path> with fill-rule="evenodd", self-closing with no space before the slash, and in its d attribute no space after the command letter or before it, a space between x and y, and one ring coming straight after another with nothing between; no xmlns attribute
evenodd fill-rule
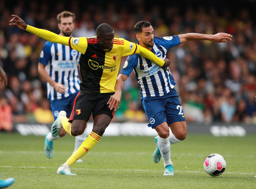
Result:
<svg viewBox="0 0 256 189"><path fill-rule="evenodd" d="M148 127L152 129L163 122L170 125L174 122L186 121L175 89L164 96L142 97L141 102L150 122Z"/></svg>

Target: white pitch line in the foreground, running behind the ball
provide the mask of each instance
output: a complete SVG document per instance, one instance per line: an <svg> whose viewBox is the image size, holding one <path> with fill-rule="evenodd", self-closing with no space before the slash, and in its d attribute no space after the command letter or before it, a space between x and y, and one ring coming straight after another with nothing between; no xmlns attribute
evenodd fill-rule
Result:
<svg viewBox="0 0 256 189"><path fill-rule="evenodd" d="M9 167L9 168L31 168L31 169L58 169L58 167L30 167L30 166L0 166L0 167ZM80 169L80 170L108 170L108 171L150 171L150 172L162 172L163 170L139 170L139 169L85 169L85 168L72 168L72 169ZM205 173L203 171L174 171L177 173ZM232 173L225 172L225 174L241 174L241 175L254 175L255 173Z"/></svg>

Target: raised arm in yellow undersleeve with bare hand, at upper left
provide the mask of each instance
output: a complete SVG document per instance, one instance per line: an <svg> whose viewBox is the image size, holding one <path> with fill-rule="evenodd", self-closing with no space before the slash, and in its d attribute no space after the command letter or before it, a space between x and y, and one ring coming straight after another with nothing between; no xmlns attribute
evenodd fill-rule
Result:
<svg viewBox="0 0 256 189"><path fill-rule="evenodd" d="M68 45L69 37L60 36L53 32L50 32L45 29L39 29L32 26L27 25L20 17L16 15L12 15L13 18L10 20L10 26L18 26L20 29L26 30L32 34L36 34L37 36L50 41L52 43L60 43L63 45Z"/></svg>

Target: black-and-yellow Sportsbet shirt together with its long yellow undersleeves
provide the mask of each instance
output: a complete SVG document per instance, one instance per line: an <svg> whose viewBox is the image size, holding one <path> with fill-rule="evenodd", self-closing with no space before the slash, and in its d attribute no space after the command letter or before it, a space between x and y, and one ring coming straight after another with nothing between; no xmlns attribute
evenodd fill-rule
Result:
<svg viewBox="0 0 256 189"><path fill-rule="evenodd" d="M64 37L29 25L26 31L52 43L69 45L71 49L82 53L80 61L82 76L80 91L82 92L115 92L116 78L122 56L136 53L156 62L159 66L164 65L164 60L156 57L148 49L123 38L114 38L113 48L105 51L100 47L97 37Z"/></svg>

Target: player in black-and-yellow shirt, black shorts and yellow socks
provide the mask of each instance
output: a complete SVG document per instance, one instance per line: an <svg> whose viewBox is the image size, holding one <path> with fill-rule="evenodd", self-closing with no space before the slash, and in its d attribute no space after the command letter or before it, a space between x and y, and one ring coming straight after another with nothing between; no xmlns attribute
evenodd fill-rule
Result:
<svg viewBox="0 0 256 189"><path fill-rule="evenodd" d="M108 127L114 110L108 107L108 99L115 93L115 83L122 56L141 54L143 57L156 62L159 69L170 65L170 60L159 59L151 51L123 38L115 38L113 29L106 23L96 29L95 37L64 37L50 31L27 25L18 16L12 15L9 25L29 31L47 41L68 45L82 53L80 72L82 81L77 94L70 118L65 111L60 111L52 124L52 136L57 136L63 127L71 136L78 136L84 132L85 126L92 113L93 128L74 154L57 170L57 174L76 175L71 173L70 166L88 153L100 140Z"/></svg>

